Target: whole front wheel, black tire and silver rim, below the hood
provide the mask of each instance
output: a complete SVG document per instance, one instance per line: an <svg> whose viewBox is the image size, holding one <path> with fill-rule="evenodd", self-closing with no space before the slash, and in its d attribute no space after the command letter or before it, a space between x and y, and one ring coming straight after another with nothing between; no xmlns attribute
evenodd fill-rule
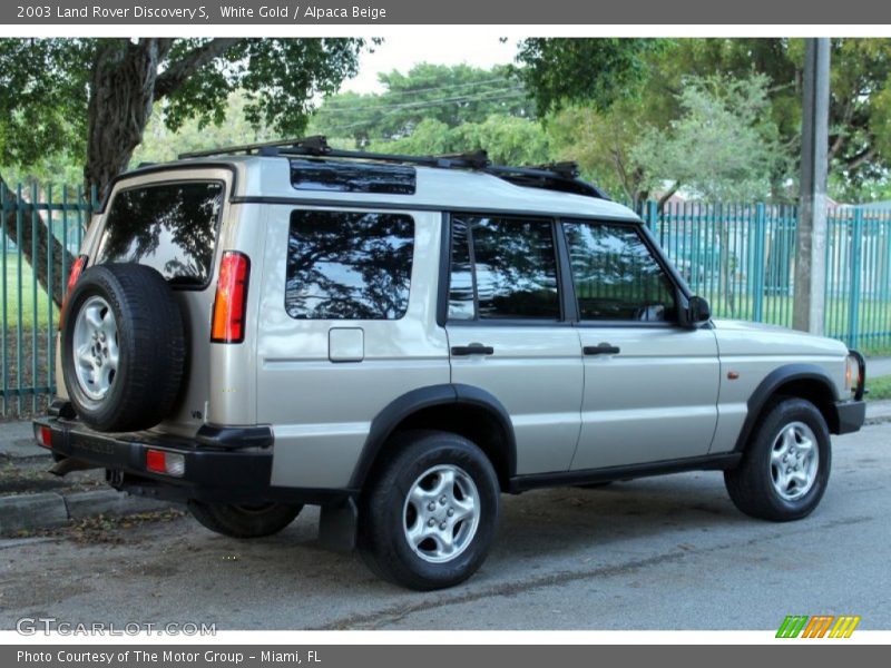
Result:
<svg viewBox="0 0 891 668"><path fill-rule="evenodd" d="M724 482L736 508L754 518L785 522L820 503L832 463L829 429L811 402L787 399L770 409L736 469Z"/></svg>

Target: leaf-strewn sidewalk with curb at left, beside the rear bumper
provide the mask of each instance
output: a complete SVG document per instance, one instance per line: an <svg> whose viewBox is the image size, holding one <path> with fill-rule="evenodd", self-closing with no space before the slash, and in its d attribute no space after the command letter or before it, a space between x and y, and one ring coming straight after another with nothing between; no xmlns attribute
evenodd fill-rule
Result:
<svg viewBox="0 0 891 668"><path fill-rule="evenodd" d="M49 452L33 438L30 422L0 422L0 536L65 527L96 515L125 517L169 508L130 497L105 483L105 471L48 473Z"/></svg>

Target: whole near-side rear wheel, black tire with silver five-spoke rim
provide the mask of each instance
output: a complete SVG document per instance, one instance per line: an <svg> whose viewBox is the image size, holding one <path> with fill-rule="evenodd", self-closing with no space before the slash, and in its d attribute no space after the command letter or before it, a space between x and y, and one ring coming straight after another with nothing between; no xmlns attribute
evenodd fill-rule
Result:
<svg viewBox="0 0 891 668"><path fill-rule="evenodd" d="M473 443L446 432L407 432L360 508L359 549L381 578L418 590L452 587L486 559L498 523L499 484Z"/></svg>

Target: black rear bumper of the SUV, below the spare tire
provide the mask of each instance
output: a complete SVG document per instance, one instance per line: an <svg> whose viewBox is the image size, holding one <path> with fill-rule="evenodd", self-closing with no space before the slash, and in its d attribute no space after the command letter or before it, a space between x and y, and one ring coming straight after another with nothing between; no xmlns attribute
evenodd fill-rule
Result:
<svg viewBox="0 0 891 668"><path fill-rule="evenodd" d="M203 426L194 439L137 432L95 432L77 420L48 416L35 420L36 432L50 430L50 446L57 460L70 458L90 468L106 469L109 483L134 494L185 502L196 499L216 503L287 501L336 505L349 490L278 488L270 484L273 461L272 430L260 428ZM183 456L182 475L149 471L149 450Z"/></svg>

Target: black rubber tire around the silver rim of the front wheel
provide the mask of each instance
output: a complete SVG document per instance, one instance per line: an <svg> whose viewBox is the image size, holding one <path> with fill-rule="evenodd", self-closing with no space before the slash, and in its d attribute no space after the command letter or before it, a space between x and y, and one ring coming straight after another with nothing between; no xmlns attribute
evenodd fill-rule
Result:
<svg viewBox="0 0 891 668"><path fill-rule="evenodd" d="M789 485L777 483L785 489L787 497L801 493L799 498L784 498L774 483L774 478L782 475L782 472L772 463L772 454L775 448L782 452L784 432L791 430L799 434L803 431L801 428L793 429L795 424L810 429L819 456L814 463L814 472L806 477L806 480L813 480L810 487L803 484L796 489L795 485L800 483L794 481ZM790 460L791 465L795 464L795 456L801 454L801 444L794 434L792 438L797 449ZM810 435L807 440L811 440ZM806 455L803 456L811 461ZM724 483L733 503L745 514L774 522L789 522L807 517L817 507L826 491L831 468L832 448L823 415L811 402L785 399L774 402L765 410L763 420L746 445L742 462L737 468L724 472Z"/></svg>

